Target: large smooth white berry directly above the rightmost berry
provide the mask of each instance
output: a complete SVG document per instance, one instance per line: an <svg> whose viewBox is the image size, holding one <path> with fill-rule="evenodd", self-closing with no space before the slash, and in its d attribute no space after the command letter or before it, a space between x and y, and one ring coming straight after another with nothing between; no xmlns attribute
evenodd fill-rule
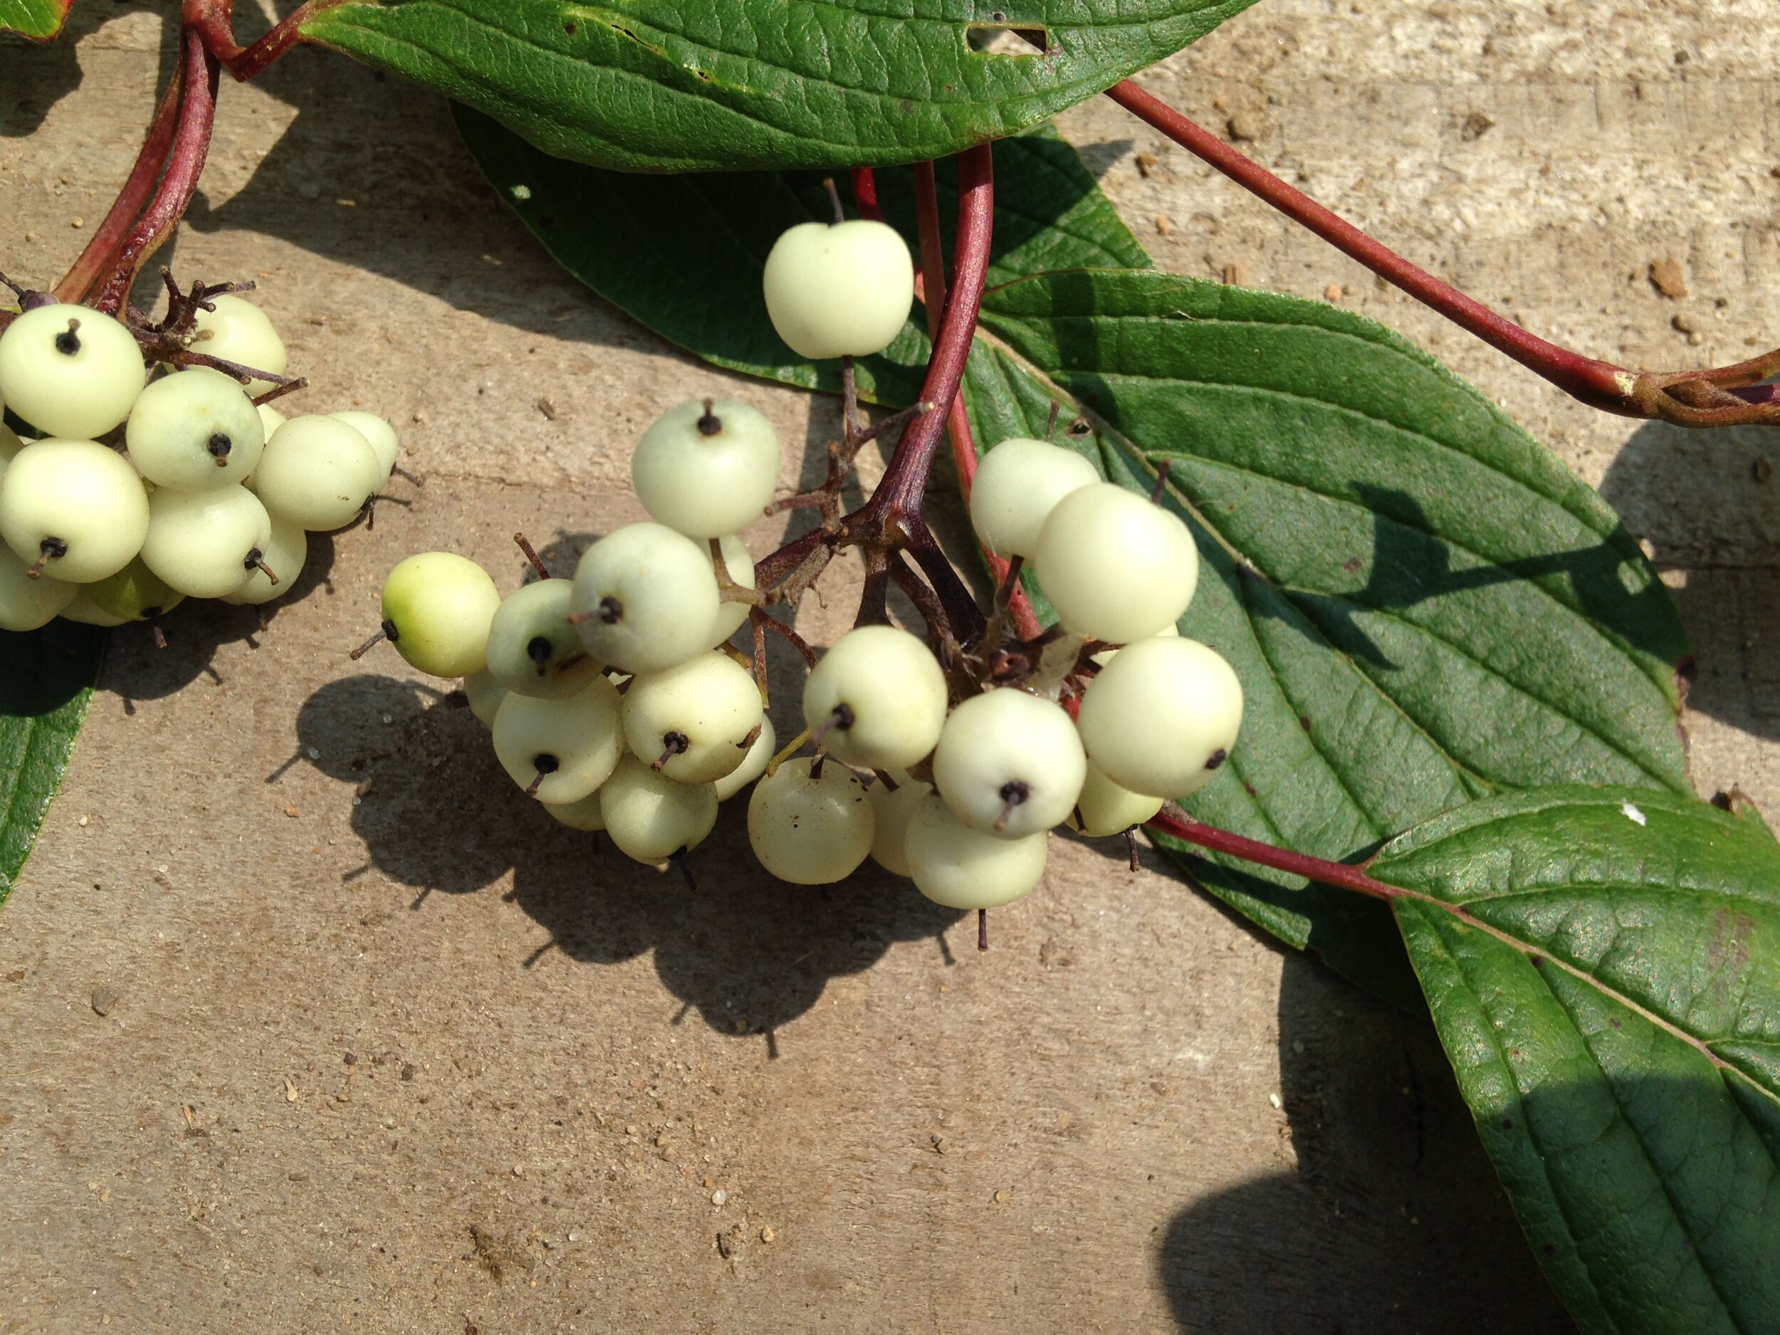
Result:
<svg viewBox="0 0 1780 1335"><path fill-rule="evenodd" d="M1032 568L1068 630L1112 644L1178 621L1200 582L1187 525L1112 482L1057 502L1038 534Z"/></svg>

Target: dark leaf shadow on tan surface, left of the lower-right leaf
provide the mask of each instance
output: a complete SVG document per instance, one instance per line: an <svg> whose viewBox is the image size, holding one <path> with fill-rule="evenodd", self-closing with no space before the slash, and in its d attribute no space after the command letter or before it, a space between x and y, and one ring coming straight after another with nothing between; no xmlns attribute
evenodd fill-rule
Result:
<svg viewBox="0 0 1780 1335"><path fill-rule="evenodd" d="M1282 956L1280 1134L1290 1168L1196 1200L1168 1223L1155 1273L1180 1330L1574 1331L1426 1013L1372 1000L1298 952Z"/></svg>

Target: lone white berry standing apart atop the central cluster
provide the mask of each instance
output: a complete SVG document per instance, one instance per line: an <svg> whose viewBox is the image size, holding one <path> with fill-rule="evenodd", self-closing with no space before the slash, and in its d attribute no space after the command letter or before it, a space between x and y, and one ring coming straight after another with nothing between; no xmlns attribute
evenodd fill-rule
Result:
<svg viewBox="0 0 1780 1335"><path fill-rule="evenodd" d="M915 306L915 262L885 222L799 222L767 255L767 315L801 358L883 352Z"/></svg>

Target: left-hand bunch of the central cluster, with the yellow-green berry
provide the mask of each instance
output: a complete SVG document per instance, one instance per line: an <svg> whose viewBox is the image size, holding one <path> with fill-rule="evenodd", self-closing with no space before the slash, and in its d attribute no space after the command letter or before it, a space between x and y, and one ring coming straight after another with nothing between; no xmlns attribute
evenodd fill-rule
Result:
<svg viewBox="0 0 1780 1335"><path fill-rule="evenodd" d="M778 473L756 409L682 404L632 459L650 522L595 541L573 578L506 598L466 557L408 557L383 584L383 635L420 671L463 678L502 767L550 815L660 863L696 847L774 751L753 671L719 646L748 621L724 593L753 584L735 530Z"/></svg>

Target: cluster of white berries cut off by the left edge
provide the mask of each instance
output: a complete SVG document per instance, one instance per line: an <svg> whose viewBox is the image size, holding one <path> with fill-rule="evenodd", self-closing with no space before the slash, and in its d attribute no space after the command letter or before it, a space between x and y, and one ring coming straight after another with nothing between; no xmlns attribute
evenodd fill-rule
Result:
<svg viewBox="0 0 1780 1335"><path fill-rule="evenodd" d="M199 288L185 310L182 342L214 365L144 361L123 320L44 299L0 333L0 406L41 436L0 422L0 628L267 603L294 587L308 532L356 520L395 468L379 417L287 420L255 400L292 384L258 306Z"/></svg>

